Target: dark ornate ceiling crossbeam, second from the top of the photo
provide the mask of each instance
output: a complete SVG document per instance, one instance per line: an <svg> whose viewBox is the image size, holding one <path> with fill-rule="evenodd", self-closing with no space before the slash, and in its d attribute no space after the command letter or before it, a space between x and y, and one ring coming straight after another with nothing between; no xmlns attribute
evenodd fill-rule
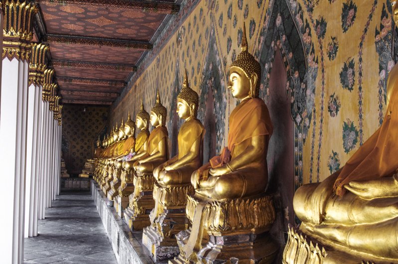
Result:
<svg viewBox="0 0 398 264"><path fill-rule="evenodd" d="M128 48L128 49L142 49L142 50L151 50L153 48L153 45L147 41L86 37L86 36L77 36L77 35L61 35L61 34L47 34L44 36L43 42L79 44L79 45L100 46L100 47L116 47L116 48Z"/></svg>

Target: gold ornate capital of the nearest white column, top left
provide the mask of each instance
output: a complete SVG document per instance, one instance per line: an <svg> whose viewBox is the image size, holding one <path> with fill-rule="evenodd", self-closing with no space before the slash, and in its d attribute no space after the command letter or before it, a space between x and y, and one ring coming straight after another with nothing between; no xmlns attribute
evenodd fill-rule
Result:
<svg viewBox="0 0 398 264"><path fill-rule="evenodd" d="M36 4L27 1L7 0L3 3L3 10L2 58L29 61L30 41L33 38L33 16L38 11Z"/></svg>

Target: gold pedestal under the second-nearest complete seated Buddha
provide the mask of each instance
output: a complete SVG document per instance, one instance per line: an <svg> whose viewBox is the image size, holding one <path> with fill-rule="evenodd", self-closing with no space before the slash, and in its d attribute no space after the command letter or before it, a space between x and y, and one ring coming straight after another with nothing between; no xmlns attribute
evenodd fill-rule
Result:
<svg viewBox="0 0 398 264"><path fill-rule="evenodd" d="M151 225L145 227L142 234L142 244L152 253L154 262L178 256L180 251L175 235L188 228L186 197L193 191L190 183L163 187L155 182L153 199L157 204L149 215Z"/></svg>

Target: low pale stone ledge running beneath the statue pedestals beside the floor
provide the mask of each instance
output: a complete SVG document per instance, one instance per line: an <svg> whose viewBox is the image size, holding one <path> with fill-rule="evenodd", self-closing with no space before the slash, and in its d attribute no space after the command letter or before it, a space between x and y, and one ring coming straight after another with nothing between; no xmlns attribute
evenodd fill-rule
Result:
<svg viewBox="0 0 398 264"><path fill-rule="evenodd" d="M142 247L142 231L130 231L115 208L107 206L108 199L94 180L91 181L91 194L118 263L153 264L149 251Z"/></svg>

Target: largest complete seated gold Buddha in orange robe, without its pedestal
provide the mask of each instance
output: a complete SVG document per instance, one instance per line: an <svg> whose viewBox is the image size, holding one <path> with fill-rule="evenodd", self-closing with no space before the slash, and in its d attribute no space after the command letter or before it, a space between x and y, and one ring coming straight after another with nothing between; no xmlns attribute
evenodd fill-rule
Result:
<svg viewBox="0 0 398 264"><path fill-rule="evenodd" d="M195 191L204 197L234 199L265 191L272 122L259 98L260 76L260 64L247 51L244 36L242 52L229 69L228 89L240 103L230 115L228 147L192 175Z"/></svg>

